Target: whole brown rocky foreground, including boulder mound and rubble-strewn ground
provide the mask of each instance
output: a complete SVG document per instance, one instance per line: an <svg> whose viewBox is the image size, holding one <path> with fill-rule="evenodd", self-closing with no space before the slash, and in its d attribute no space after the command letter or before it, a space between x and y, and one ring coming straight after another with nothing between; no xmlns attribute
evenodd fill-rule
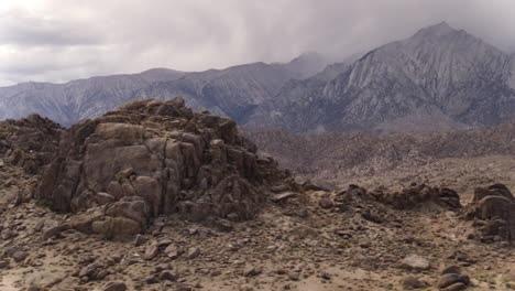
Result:
<svg viewBox="0 0 515 291"><path fill-rule="evenodd" d="M37 116L0 129L2 291L515 283L515 198L502 184L471 203L452 184L324 191L182 98L134 100L67 130ZM26 151L39 171L13 160Z"/></svg>

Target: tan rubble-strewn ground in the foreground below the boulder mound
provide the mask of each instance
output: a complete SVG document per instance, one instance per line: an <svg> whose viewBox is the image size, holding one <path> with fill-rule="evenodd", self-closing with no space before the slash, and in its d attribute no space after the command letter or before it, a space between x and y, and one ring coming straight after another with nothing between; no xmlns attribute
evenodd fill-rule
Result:
<svg viewBox="0 0 515 291"><path fill-rule="evenodd" d="M230 231L163 216L121 241L69 228L69 215L30 202L0 214L0 287L511 290L515 261L502 238L511 233L491 218L505 207L487 203L500 200L494 190L464 209L451 190L426 185L310 191L263 204Z"/></svg>

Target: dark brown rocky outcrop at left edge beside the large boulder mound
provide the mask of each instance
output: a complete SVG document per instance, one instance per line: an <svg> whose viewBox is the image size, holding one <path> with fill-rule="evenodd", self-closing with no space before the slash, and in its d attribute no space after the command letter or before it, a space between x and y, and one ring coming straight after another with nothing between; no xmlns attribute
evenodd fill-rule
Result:
<svg viewBox="0 0 515 291"><path fill-rule="evenodd" d="M63 128L39 115L0 122L0 158L36 174L48 164L58 148Z"/></svg>

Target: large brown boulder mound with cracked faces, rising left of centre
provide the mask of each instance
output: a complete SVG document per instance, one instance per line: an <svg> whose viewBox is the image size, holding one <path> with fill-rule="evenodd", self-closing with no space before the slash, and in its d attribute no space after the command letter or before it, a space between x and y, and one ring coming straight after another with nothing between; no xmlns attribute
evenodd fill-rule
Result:
<svg viewBox="0 0 515 291"><path fill-rule="evenodd" d="M255 151L233 120L194 112L183 98L133 100L65 131L36 197L62 212L107 205L102 209L108 214L120 202L139 197L146 217L249 219L265 201L266 188L288 176ZM105 229L121 224L139 233L143 227L138 219L129 223L131 216L108 216L114 218L89 219L85 229L109 233Z"/></svg>

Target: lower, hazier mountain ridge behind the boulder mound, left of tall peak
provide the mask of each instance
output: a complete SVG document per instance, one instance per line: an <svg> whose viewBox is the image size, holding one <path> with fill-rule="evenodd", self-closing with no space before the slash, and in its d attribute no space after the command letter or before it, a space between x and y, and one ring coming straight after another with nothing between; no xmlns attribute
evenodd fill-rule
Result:
<svg viewBox="0 0 515 291"><path fill-rule="evenodd" d="M319 54L307 53L286 64L253 63L193 73L153 68L65 84L23 83L0 88L0 120L36 112L70 126L134 98L183 96L190 107L241 121L246 111L273 98L287 80L321 71L324 62Z"/></svg>

